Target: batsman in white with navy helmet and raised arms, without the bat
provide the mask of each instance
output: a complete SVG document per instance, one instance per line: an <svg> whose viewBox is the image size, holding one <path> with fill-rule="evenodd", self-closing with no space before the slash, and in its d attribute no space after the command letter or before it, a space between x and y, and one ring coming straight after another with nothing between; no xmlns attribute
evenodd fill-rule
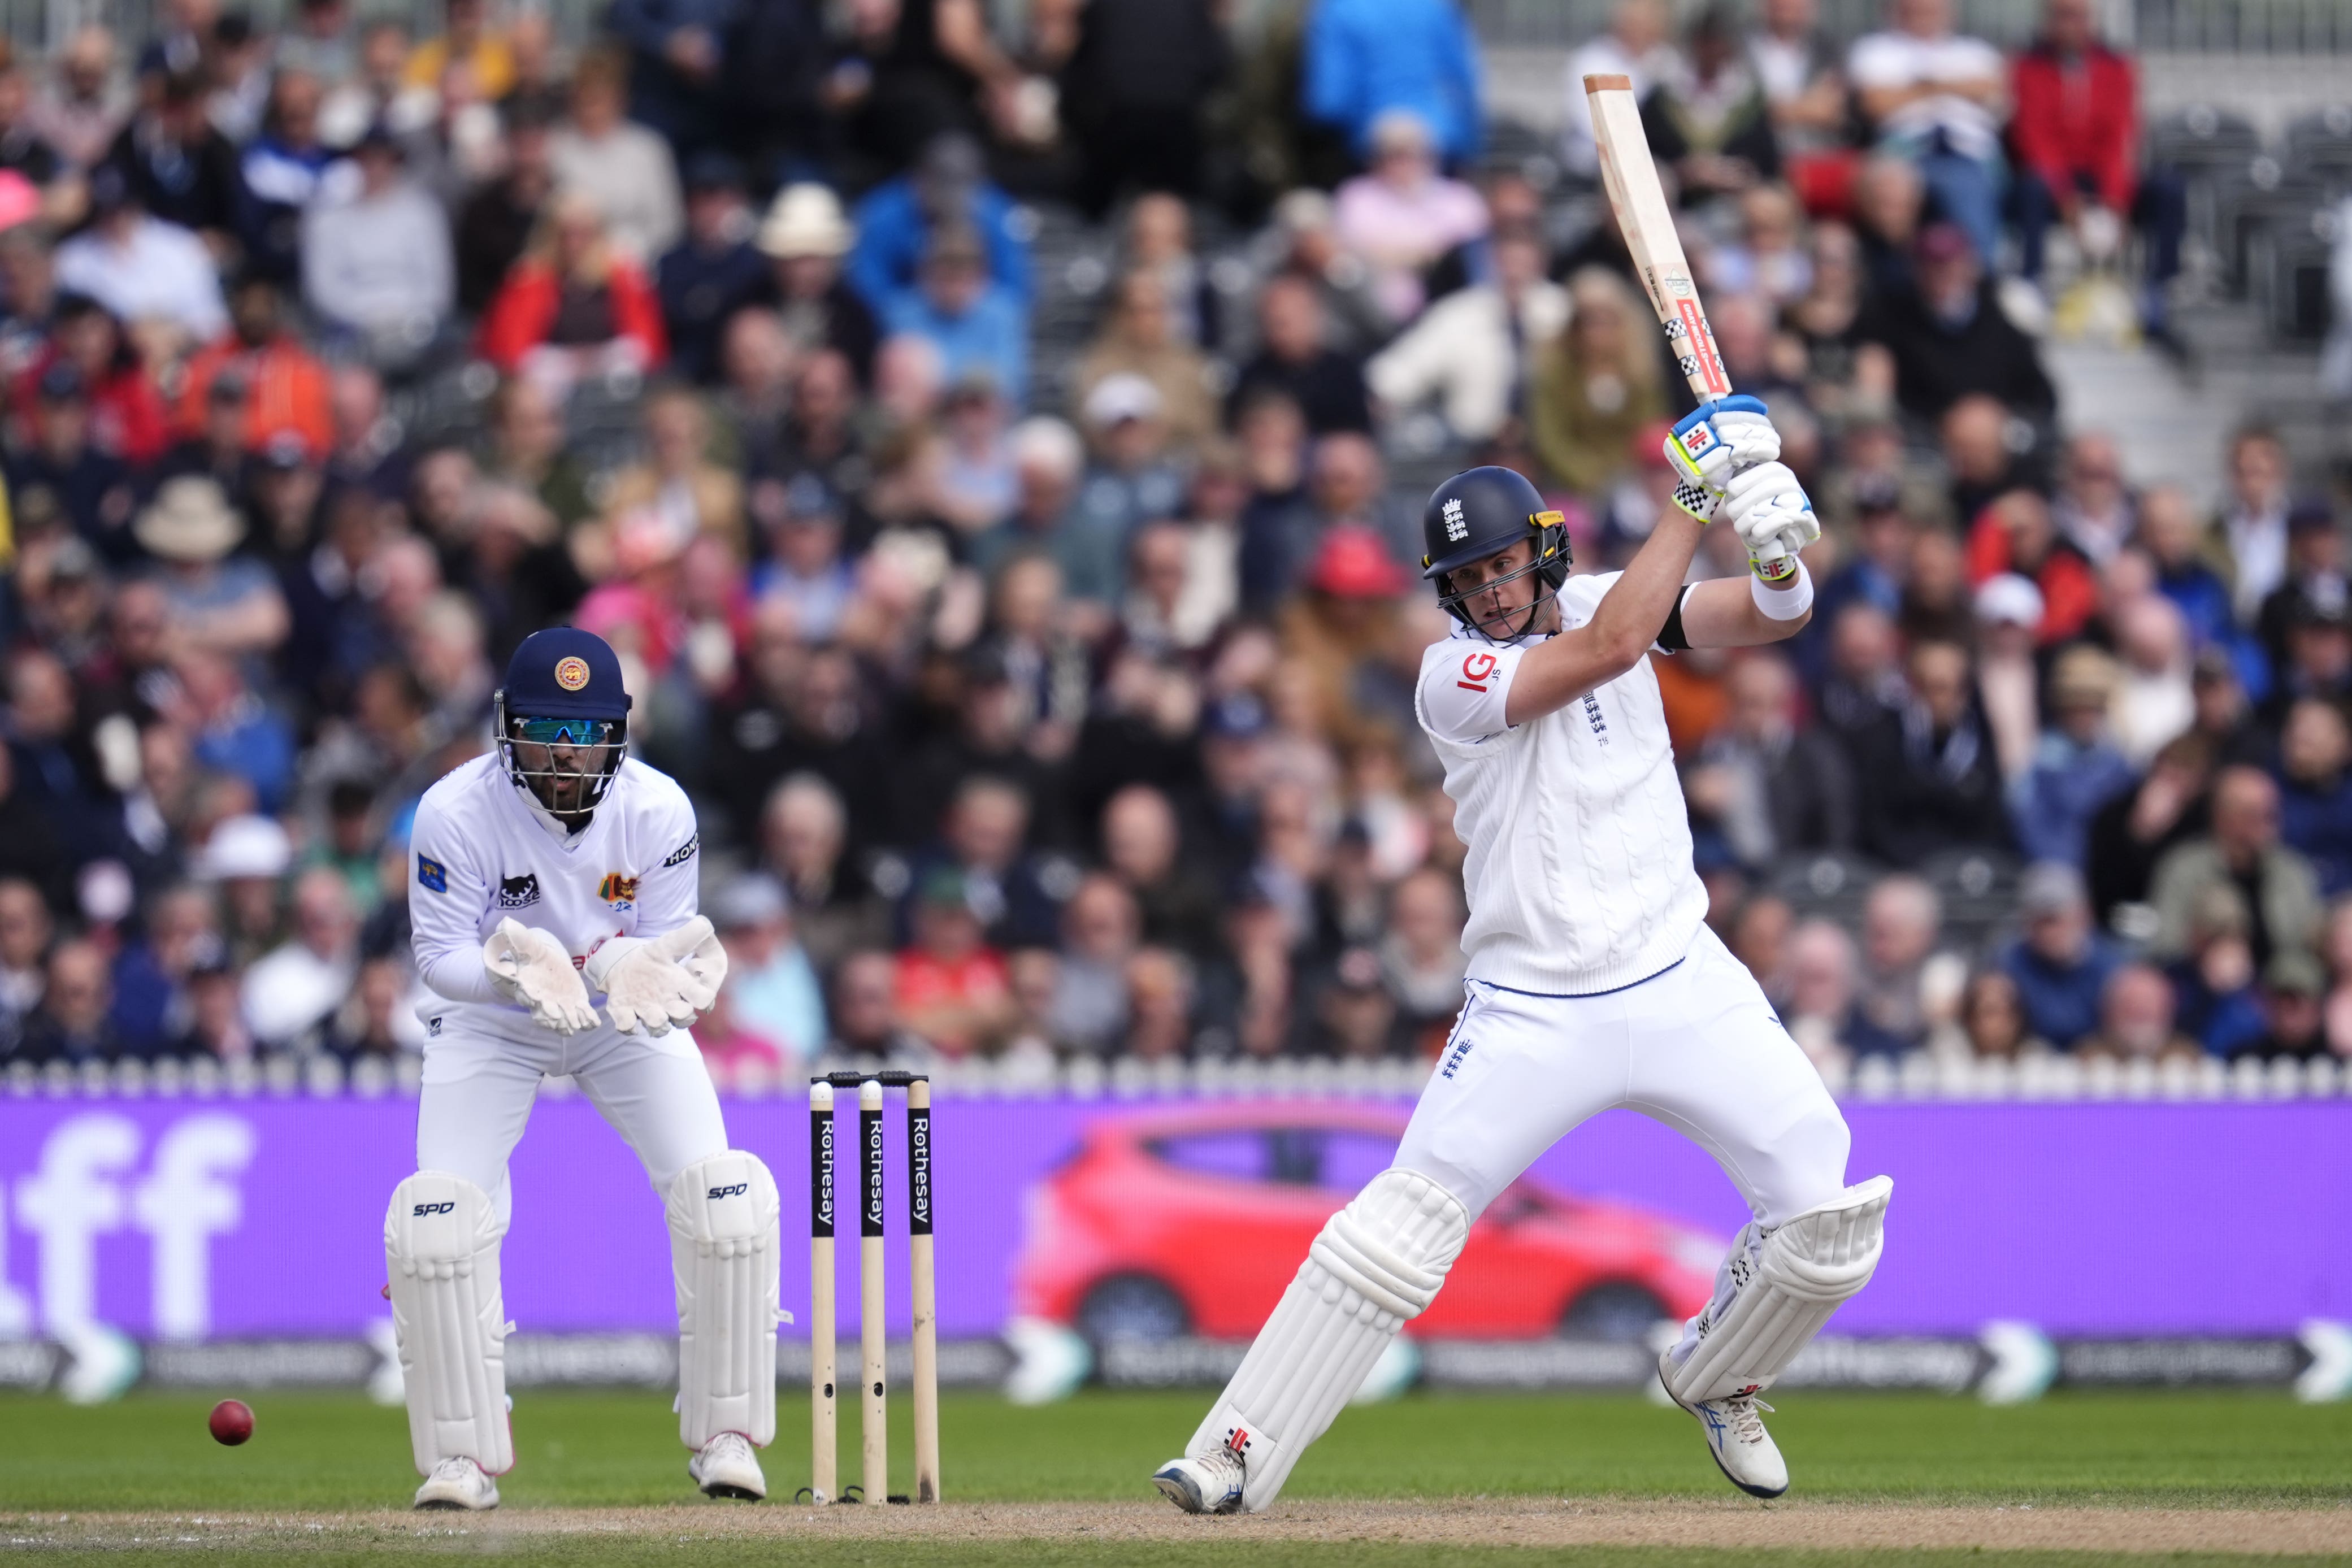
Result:
<svg viewBox="0 0 2352 1568"><path fill-rule="evenodd" d="M1757 1394L1870 1281L1893 1182L1846 1185L1846 1121L1755 978L1705 926L1646 654L1778 642L1806 623L1820 536L1755 397L1675 425L1675 505L1623 574L1569 576L1559 512L1505 468L1421 517L1423 578L1461 623L1421 656L1416 710L1468 844L1465 1004L1395 1164L1331 1215L1183 1458L1152 1481L1195 1514L1256 1512L1470 1227L1595 1112L1632 1107L1715 1157L1752 1211L1708 1307L1658 1356L1724 1476L1788 1490ZM1750 581L1684 585L1700 531Z"/></svg>

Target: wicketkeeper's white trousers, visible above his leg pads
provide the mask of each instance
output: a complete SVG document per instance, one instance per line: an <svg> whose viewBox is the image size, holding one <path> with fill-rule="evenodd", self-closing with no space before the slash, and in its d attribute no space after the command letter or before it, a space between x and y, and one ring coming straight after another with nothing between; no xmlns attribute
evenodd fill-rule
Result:
<svg viewBox="0 0 2352 1568"><path fill-rule="evenodd" d="M499 1227L513 1213L506 1159L522 1140L539 1081L569 1074L597 1114L644 1161L654 1192L668 1197L677 1173L727 1152L720 1095L689 1030L661 1039L612 1027L546 1041L452 1034L426 1041L423 1093L416 1100L416 1168L452 1171L492 1197Z"/></svg>

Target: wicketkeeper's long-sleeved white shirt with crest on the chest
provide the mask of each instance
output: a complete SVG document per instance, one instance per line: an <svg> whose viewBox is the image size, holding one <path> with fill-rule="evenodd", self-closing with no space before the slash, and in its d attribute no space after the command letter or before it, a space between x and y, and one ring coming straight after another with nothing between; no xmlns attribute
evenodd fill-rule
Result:
<svg viewBox="0 0 2352 1568"><path fill-rule="evenodd" d="M529 1009L503 1001L482 966L482 943L499 922L548 931L581 966L616 936L661 936L694 919L699 849L687 792L637 759L621 764L576 835L562 835L515 788L496 752L449 771L416 804L409 839L409 924L430 992L419 1009L428 1034L463 1025L532 1039Z"/></svg>

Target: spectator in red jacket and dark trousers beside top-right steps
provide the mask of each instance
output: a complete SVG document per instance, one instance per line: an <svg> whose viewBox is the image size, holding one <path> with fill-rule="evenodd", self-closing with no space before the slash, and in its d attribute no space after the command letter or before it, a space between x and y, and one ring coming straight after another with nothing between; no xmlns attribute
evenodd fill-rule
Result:
<svg viewBox="0 0 2352 1568"><path fill-rule="evenodd" d="M2011 99L2020 270L2039 282L2056 219L2093 256L2112 254L2122 226L2138 223L2147 237L2143 320L2150 336L2171 343L2164 284L2180 273L2185 197L2173 172L2140 172L2138 68L2098 40L2091 0L2049 0L2042 38L2018 56Z"/></svg>

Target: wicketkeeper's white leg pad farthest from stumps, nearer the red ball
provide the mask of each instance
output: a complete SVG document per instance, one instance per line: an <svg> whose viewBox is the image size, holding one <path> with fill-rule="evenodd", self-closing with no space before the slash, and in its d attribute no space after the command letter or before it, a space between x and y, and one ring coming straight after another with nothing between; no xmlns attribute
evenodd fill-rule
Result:
<svg viewBox="0 0 2352 1568"><path fill-rule="evenodd" d="M416 1474L468 1458L489 1474L515 1467L506 1422L506 1302L499 1295L499 1211L449 1171L393 1187L383 1267L409 1401Z"/></svg>

